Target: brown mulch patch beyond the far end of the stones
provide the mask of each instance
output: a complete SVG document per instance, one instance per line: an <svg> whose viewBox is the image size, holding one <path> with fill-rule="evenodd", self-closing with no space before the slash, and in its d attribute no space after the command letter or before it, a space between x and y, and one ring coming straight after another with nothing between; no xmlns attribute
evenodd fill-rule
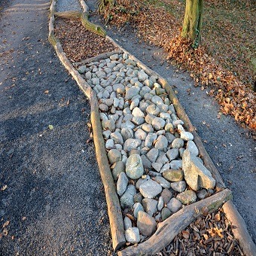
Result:
<svg viewBox="0 0 256 256"><path fill-rule="evenodd" d="M59 38L62 48L71 62L79 62L101 53L116 50L108 39L85 29L80 20L57 19L55 35Z"/></svg>

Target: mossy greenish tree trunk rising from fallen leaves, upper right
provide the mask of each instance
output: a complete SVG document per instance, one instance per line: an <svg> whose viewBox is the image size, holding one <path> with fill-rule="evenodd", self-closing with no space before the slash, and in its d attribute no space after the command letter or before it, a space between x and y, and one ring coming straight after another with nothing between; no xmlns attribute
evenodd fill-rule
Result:
<svg viewBox="0 0 256 256"><path fill-rule="evenodd" d="M186 11L181 37L190 39L195 48L200 44L202 24L203 0L186 0Z"/></svg>

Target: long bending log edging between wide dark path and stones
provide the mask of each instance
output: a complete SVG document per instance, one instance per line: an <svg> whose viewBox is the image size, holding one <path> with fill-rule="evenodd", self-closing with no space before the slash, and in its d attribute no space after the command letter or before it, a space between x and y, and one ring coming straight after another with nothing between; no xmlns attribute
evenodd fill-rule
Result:
<svg viewBox="0 0 256 256"><path fill-rule="evenodd" d="M96 94L91 89L90 85L84 81L84 78L78 73L78 71L69 62L66 54L62 50L62 46L53 34L53 22L54 22L54 9L56 6L55 0L51 4L51 10L53 10L52 16L50 17L49 23L49 41L53 44L56 54L59 57L60 62L69 71L72 77L78 84L78 87L83 93L90 99L91 108L91 122L93 126L93 140L96 149L96 160L99 166L99 173L102 178L102 183L105 190L105 198L108 206L108 218L111 227L112 245L114 251L120 249L126 242L124 238L123 230L123 218L120 209L119 199L117 197L114 179L111 174L111 170L108 165L108 157L105 153L105 142L102 136L102 126L99 118L99 107Z"/></svg>

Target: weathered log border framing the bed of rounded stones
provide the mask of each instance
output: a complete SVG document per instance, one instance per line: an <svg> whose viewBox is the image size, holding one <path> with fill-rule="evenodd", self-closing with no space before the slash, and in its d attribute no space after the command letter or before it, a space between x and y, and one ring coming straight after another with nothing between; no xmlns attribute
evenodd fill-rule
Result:
<svg viewBox="0 0 256 256"><path fill-rule="evenodd" d="M89 9L85 4L84 0L81 0L80 2L81 2L82 8L84 9L84 12L88 12ZM53 23L54 23L55 7L56 7L56 0L53 0L50 5L50 23L49 23L48 38L50 43L53 44L53 47L56 50L57 56L59 57L59 60L62 62L62 65L65 66L66 69L68 69L69 73L78 83L78 87L83 91L83 93L87 96L87 98L90 99L91 122L93 126L93 140L96 148L96 160L98 162L99 172L100 172L102 183L105 189L105 197L106 197L107 206L108 206L108 217L109 217L109 222L111 227L112 245L113 245L114 251L120 250L120 248L122 248L123 245L125 244L125 238L123 235L124 234L123 218L122 218L122 212L120 210L120 202L117 197L117 193L115 189L114 180L111 175L111 170L108 164L108 157L105 153L105 142L102 136L101 122L99 118L98 100L96 97L96 93L94 93L90 85L87 84L86 81L84 81L84 78L81 77L81 75L74 68L74 66L79 66L79 65L87 64L89 62L98 61L99 59L106 58L108 56L111 56L114 53L123 52L123 53L127 53L130 59L133 59L134 61L136 61L137 65L142 69L144 69L145 72L148 73L148 75L154 76L154 78L156 78L158 82L162 84L163 88L166 89L166 92L169 93L169 99L171 99L172 104L175 106L175 110L178 114L178 117L184 121L185 128L189 130L190 133L193 133L194 142L199 148L200 155L203 158L203 161L206 167L212 172L212 176L216 180L216 190L220 192L212 195L211 197L206 198L205 200L200 200L197 203L193 203L190 206L184 206L184 209L181 209L176 214L167 218L166 221L163 221L162 223L160 223L156 233L154 233L154 235L151 236L151 238L149 238L148 240L146 240L145 242L142 242L137 246L131 246L123 249L122 251L118 251L118 255L138 255L138 254L147 254L149 252L156 253L157 251L160 251L166 245L168 245L169 242L172 241L172 239L177 235L179 231L183 230L198 216L202 215L202 212L205 209L204 208L205 206L206 207L208 206L207 210L211 212L214 209L220 208L224 203L223 205L224 213L227 219L236 227L236 229L233 229L233 233L236 239L239 240L239 244L242 247L243 252L246 255L256 256L256 248L251 239L251 236L249 236L248 234L248 230L246 229L245 222L243 221L241 215L239 215L239 212L237 212L236 207L230 201L232 197L230 190L225 189L224 181L221 178L221 175L219 174L218 169L216 169L214 163L212 163L212 160L209 157L209 154L207 153L206 149L203 146L203 142L201 141L200 137L197 135L197 132L194 126L192 125L189 118L187 117L187 114L185 113L184 108L181 106L181 103L178 101L177 96L172 90L172 87L170 87L169 84L167 83L166 79L158 75L157 72L154 72L153 70L149 69L148 66L146 66L144 63L139 61L139 59L137 59L135 56L130 54L127 50L123 49L123 47L120 47L120 45L117 44L117 42L114 41L112 38L110 38L108 35L106 36L106 38L108 38L108 40L110 40L117 48L119 48L120 51L117 51L117 52L115 51L114 53L113 52L102 53L100 56L95 56L93 58L86 59L82 62L73 63L74 65L73 66L72 63L69 62L69 59L67 59L66 54L62 50L61 44L59 43L58 39L54 35ZM191 212L192 212L192 215L191 215ZM184 215L190 216L189 218L187 218L187 221L185 221L184 218L182 217ZM180 220L180 221L177 221L177 220ZM175 223L177 223L178 226ZM171 226L174 226L174 227L171 227ZM166 236L168 237L168 239L166 239ZM161 241L161 242L156 242L155 240L156 238L157 238L157 241ZM157 248L155 248L156 245L157 245ZM141 248L143 251L141 251ZM145 250L148 250L148 251L145 251Z"/></svg>

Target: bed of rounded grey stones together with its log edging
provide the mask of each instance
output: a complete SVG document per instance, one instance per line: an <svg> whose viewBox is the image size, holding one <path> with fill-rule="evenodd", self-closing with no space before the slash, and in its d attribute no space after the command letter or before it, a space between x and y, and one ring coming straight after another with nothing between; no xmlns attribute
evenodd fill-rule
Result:
<svg viewBox="0 0 256 256"><path fill-rule="evenodd" d="M90 99L114 251L155 254L198 216L223 206L243 251L253 254L231 192L172 87L108 36L119 50L69 62L54 37L55 6L53 1L49 38Z"/></svg>

